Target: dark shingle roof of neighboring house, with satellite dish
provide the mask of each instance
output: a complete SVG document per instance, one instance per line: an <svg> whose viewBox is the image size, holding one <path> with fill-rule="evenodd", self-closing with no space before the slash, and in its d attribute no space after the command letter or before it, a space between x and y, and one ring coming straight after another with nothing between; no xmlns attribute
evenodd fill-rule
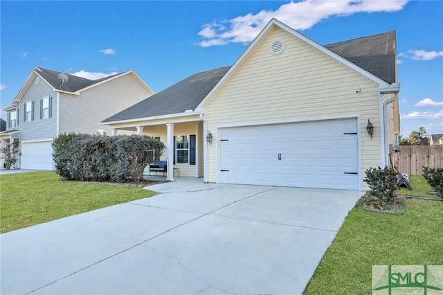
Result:
<svg viewBox="0 0 443 295"><path fill-rule="evenodd" d="M46 80L46 82L51 84L51 86L54 87L55 89L60 89L60 87L62 86L62 82L60 82L60 80L57 78L58 74L62 73L62 72L57 72L57 71L53 71L50 69L44 69L41 66L37 66L35 71L37 71L37 73L39 73L39 75L41 75L42 78L44 78L44 80ZM89 80L89 79L78 77L76 75L71 75L68 73L64 73L64 74L66 74L68 76L69 80L67 82L64 82L63 89L60 89L60 90L69 91L69 92L79 91L79 90L89 87L93 84L97 84L99 82L102 82L104 80L107 80L109 78L116 76L116 75L110 75L108 77L100 78L97 80ZM117 74L117 75L120 75L120 74Z"/></svg>

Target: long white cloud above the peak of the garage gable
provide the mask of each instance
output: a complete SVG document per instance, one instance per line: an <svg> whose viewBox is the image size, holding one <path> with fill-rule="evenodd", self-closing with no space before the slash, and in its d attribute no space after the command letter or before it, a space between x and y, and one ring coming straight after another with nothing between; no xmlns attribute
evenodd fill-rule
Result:
<svg viewBox="0 0 443 295"><path fill-rule="evenodd" d="M408 0L303 0L283 4L277 10L262 10L257 14L235 17L224 21L204 24L198 33L204 40L202 47L233 42L251 42L266 24L278 19L296 30L306 30L329 17L343 17L358 12L395 12L401 10Z"/></svg>

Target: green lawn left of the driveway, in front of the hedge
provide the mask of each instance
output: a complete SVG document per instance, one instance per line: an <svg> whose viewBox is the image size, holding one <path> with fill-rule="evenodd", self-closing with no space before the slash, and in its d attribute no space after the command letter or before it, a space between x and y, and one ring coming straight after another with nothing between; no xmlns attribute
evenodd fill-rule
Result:
<svg viewBox="0 0 443 295"><path fill-rule="evenodd" d="M0 176L0 233L156 193L132 186L60 181L55 172Z"/></svg>

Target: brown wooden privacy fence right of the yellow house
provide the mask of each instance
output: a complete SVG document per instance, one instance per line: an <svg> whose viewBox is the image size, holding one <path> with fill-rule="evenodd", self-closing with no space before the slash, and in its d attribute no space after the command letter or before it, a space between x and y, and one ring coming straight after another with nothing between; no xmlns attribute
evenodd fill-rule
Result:
<svg viewBox="0 0 443 295"><path fill-rule="evenodd" d="M392 162L401 173L422 175L423 166L443 168L443 145L397 145Z"/></svg>

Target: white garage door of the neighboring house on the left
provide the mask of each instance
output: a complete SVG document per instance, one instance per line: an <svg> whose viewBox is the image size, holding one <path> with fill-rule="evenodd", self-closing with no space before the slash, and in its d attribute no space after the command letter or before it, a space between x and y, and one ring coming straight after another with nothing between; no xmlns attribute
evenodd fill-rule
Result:
<svg viewBox="0 0 443 295"><path fill-rule="evenodd" d="M21 168L53 170L52 141L21 144Z"/></svg>

